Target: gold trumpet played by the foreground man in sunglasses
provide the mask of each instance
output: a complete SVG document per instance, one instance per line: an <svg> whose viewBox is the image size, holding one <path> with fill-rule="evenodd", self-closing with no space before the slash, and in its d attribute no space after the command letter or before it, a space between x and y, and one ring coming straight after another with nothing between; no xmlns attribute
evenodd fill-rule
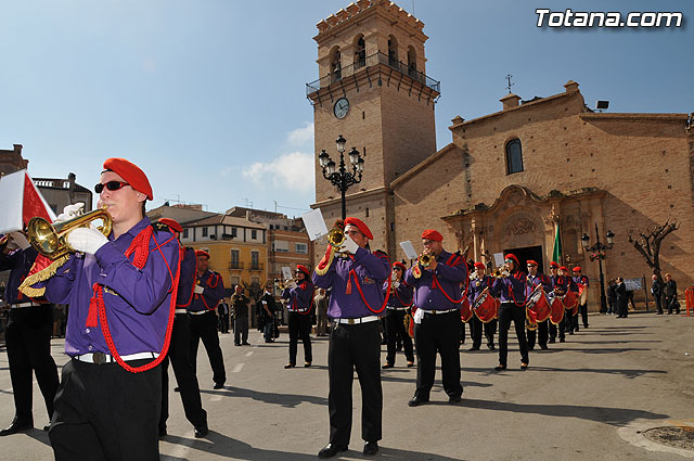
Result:
<svg viewBox="0 0 694 461"><path fill-rule="evenodd" d="M81 227L89 227L91 221L101 219L102 226L99 231L104 235L111 234L113 219L105 209L99 208L93 212L86 213L67 221L50 223L41 217L34 217L27 226L27 236L29 243L40 254L49 259L55 260L68 253L75 253L75 249L67 243L67 234Z"/></svg>

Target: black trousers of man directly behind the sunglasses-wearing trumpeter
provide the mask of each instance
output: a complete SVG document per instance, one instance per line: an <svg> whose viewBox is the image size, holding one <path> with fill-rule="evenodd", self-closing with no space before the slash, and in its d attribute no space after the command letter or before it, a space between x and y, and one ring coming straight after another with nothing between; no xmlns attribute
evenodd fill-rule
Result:
<svg viewBox="0 0 694 461"><path fill-rule="evenodd" d="M176 315L169 353L162 362L159 432L166 430L166 420L169 418L169 360L181 394L185 418L195 427L207 426L207 412L203 410L197 376L191 366L191 322L188 313Z"/></svg>

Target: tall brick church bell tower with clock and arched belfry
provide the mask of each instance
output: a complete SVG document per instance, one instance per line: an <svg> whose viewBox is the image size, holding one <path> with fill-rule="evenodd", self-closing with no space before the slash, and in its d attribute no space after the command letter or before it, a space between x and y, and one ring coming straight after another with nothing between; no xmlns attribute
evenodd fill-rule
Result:
<svg viewBox="0 0 694 461"><path fill-rule="evenodd" d="M434 107L440 84L426 76L424 24L388 0L359 0L317 25L319 79L307 84L313 105L316 203L329 228L342 217L340 191L323 177L318 153L339 164L352 148L361 182L347 190L347 216L370 227L372 249L395 254L390 182L436 152Z"/></svg>

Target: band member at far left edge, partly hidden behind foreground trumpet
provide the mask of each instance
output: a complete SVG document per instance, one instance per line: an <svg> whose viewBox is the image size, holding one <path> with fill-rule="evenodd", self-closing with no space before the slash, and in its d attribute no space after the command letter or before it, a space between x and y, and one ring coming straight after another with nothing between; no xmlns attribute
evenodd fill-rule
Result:
<svg viewBox="0 0 694 461"><path fill-rule="evenodd" d="M0 270L10 270L4 289L4 300L10 305L4 337L14 397L14 419L9 427L0 431L0 436L34 427L33 371L46 401L49 421L53 415L59 382L57 368L51 357L52 306L39 304L18 291L37 255L24 233L18 231L9 234L0 244ZM43 428L48 431L49 426Z"/></svg>

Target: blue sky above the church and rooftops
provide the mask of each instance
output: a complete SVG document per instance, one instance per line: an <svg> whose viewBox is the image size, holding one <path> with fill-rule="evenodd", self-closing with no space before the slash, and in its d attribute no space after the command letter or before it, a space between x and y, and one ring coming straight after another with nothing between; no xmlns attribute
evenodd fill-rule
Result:
<svg viewBox="0 0 694 461"><path fill-rule="evenodd" d="M523 99L580 84L611 112L694 111L689 1L403 0L424 22L441 81L437 145L451 118L497 112L505 75ZM0 149L24 145L34 177L92 187L107 157L140 165L154 202L300 215L313 201L316 23L336 0L23 0L0 5ZM625 10L628 5L628 10ZM679 11L680 28L550 29L552 11ZM369 166L367 165L367 168Z"/></svg>

